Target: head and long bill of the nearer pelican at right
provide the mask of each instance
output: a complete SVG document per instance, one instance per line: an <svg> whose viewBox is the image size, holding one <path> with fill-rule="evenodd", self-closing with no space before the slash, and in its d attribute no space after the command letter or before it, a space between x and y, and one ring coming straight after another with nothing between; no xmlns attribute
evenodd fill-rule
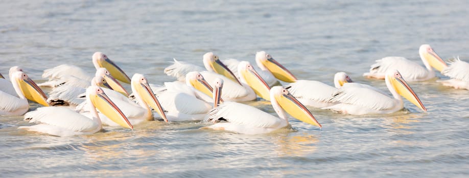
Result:
<svg viewBox="0 0 469 178"><path fill-rule="evenodd" d="M403 96L415 106L419 107L424 111L427 111L424 104L422 104L418 96L415 94L409 84L407 84L406 80L402 78L402 75L401 73L399 73L399 71L388 70L388 72L386 73L386 84L391 85L391 87L395 90L397 94Z"/></svg>

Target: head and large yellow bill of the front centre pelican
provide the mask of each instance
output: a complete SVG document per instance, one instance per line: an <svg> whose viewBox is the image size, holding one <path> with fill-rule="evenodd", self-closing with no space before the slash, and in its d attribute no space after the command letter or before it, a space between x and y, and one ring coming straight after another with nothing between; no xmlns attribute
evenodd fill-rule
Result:
<svg viewBox="0 0 469 178"><path fill-rule="evenodd" d="M313 114L311 114L311 112L306 107L304 107L303 104L296 100L296 98L293 97L292 94L290 94L290 92L288 92L288 90L283 86L272 87L270 89L270 98L272 98L271 102L274 109L278 106L281 108L275 109L279 115L285 115L280 111L283 109L297 120L322 127L316 118L314 118Z"/></svg>

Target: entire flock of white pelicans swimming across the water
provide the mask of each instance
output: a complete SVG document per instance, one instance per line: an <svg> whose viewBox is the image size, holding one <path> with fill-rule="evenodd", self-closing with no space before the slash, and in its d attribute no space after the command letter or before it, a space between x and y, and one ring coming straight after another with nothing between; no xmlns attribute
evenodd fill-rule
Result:
<svg viewBox="0 0 469 178"><path fill-rule="evenodd" d="M174 59L164 73L176 81L161 85L150 84L143 74L129 78L106 54L95 52L91 57L94 74L68 64L45 69L42 78L47 81L39 84L18 66L10 68L7 78L0 74L0 115L24 114L25 121L35 125L19 129L55 136L94 134L103 127L133 129L143 122L161 121L264 134L290 128L292 118L321 128L308 107L353 115L388 114L414 107L406 106L404 97L427 112L425 101L417 96L423 91L414 91L410 85L416 83L408 82L431 82L441 76L436 82L469 90L469 63L459 57L445 62L428 44L421 45L418 53L423 66L391 56L377 60L363 74L384 79L389 91L385 92L354 82L345 72L334 75L334 86L298 79L266 51L255 53L256 66L248 61L222 61L213 52L201 57L201 66ZM52 87L49 96L40 86ZM276 115L250 104L259 100L270 102ZM30 108L29 101L44 107L33 104Z"/></svg>

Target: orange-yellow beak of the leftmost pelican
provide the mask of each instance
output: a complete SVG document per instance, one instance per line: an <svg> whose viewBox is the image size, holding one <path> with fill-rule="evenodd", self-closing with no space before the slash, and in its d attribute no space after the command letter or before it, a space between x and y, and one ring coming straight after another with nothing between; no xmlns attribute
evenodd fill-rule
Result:
<svg viewBox="0 0 469 178"><path fill-rule="evenodd" d="M26 75L26 74L24 74ZM31 80L31 78L26 78L18 81L19 88L25 97L31 101L42 104L44 106L50 106L47 103L47 96L44 92L37 86L37 84Z"/></svg>

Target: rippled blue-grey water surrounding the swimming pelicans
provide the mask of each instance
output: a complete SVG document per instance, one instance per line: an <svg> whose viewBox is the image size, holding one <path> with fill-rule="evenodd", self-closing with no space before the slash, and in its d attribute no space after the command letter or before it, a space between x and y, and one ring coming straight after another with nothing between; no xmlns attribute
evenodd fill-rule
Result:
<svg viewBox="0 0 469 178"><path fill-rule="evenodd" d="M265 50L299 79L332 84L336 72L362 77L374 60L421 64L428 43L444 59L469 61L467 1L2 1L0 73L74 64L90 73L102 51L129 75L173 81L175 57L202 66L205 52L254 62ZM442 77L438 74L438 77ZM469 174L469 92L436 79L410 85L428 108L352 116L311 108L323 128L290 119L293 130L242 135L196 122L147 122L55 137L0 116L2 177L464 177ZM314 88L311 90L314 92ZM250 102L275 115L269 105ZM31 103L30 110L38 104Z"/></svg>

